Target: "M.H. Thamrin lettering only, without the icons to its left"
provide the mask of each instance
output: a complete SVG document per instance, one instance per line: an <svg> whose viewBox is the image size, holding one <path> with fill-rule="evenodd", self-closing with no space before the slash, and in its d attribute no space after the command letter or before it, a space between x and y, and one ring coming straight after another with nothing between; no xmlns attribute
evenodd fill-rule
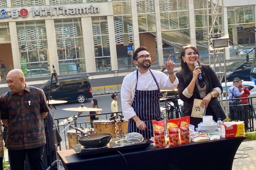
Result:
<svg viewBox="0 0 256 170"><path fill-rule="evenodd" d="M56 14L53 14L53 9L56 10ZM32 15L33 17L35 16L59 16L60 11L62 11L62 15L76 15L76 14L88 14L88 13L100 13L99 7L94 7L93 5L90 5L90 7L85 7L85 8L65 8L64 6L60 7L45 7L44 8L44 14L42 11L42 8L39 7L37 10L35 8L32 8Z"/></svg>

